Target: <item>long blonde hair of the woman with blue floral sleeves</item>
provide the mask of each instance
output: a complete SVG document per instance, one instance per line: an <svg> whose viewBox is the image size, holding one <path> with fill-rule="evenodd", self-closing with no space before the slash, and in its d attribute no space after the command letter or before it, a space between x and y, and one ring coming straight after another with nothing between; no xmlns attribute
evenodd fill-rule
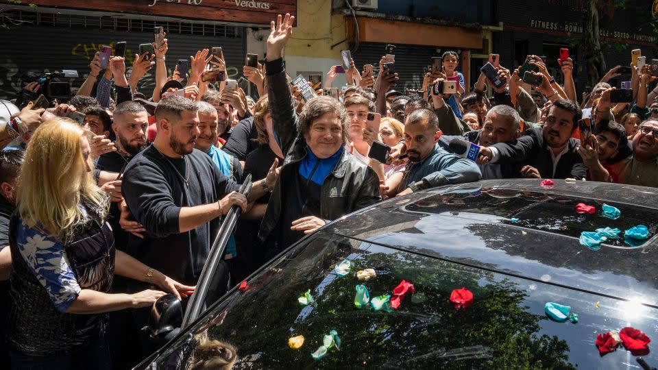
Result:
<svg viewBox="0 0 658 370"><path fill-rule="evenodd" d="M90 137L80 125L57 118L36 129L25 151L17 201L21 219L63 243L85 220L81 202L103 218L107 212L107 196L85 168L82 138Z"/></svg>

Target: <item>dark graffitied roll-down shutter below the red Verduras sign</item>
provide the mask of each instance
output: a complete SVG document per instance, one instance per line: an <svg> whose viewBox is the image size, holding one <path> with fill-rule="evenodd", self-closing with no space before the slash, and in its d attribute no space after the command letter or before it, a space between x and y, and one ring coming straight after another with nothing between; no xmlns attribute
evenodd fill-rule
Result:
<svg viewBox="0 0 658 370"><path fill-rule="evenodd" d="M152 29L152 28L151 28ZM176 61L189 60L199 49L222 47L232 78L242 75L245 60L245 29L238 28L237 37L197 36L167 34L167 69L173 71ZM86 28L59 28L42 26L12 27L0 29L0 98L13 99L23 87L19 81L27 71L43 73L61 69L75 69L81 77L89 73L89 62L101 45L110 42L126 41L127 69L132 68L134 54L140 44L153 42L152 32L116 32ZM154 73L147 73L138 86L147 97L154 88ZM169 74L171 75L171 73ZM79 87L83 78L76 79L72 86Z"/></svg>

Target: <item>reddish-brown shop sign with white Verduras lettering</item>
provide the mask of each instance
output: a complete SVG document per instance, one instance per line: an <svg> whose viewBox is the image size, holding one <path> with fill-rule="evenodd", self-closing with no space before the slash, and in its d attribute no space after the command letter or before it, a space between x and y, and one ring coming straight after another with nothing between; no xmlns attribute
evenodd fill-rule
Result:
<svg viewBox="0 0 658 370"><path fill-rule="evenodd" d="M29 3L39 7L173 16L264 26L269 26L269 22L276 19L276 14L297 15L297 0L30 0Z"/></svg>

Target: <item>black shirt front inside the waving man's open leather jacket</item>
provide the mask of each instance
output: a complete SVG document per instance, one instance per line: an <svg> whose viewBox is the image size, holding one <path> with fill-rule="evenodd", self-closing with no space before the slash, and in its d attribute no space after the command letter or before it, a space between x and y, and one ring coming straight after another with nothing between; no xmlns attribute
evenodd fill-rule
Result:
<svg viewBox="0 0 658 370"><path fill-rule="evenodd" d="M278 236L278 250L285 249L304 237L304 232L290 230L291 224L296 219L306 216L320 216L320 197L322 186L305 179L299 171L295 171L295 179L291 184L286 184L283 190L283 202L286 211L281 212L280 225L276 230L281 230Z"/></svg>

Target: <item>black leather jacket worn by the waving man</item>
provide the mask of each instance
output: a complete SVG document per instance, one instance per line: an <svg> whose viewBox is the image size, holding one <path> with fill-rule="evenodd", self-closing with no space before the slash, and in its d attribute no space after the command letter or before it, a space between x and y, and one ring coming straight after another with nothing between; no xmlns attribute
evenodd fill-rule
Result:
<svg viewBox="0 0 658 370"><path fill-rule="evenodd" d="M277 68L270 63L268 62L267 71L276 71ZM275 60L273 63L280 65L282 61ZM306 157L306 140L297 132L298 117L293 108L286 73L280 66L278 69L281 71L267 75L268 97L273 127L286 157L260 225L260 240L265 240L271 234L283 211L282 184L292 181L297 175L297 162ZM326 220L337 219L380 201L379 179L370 167L348 151L343 151L336 167L322 184L321 199L319 217Z"/></svg>

